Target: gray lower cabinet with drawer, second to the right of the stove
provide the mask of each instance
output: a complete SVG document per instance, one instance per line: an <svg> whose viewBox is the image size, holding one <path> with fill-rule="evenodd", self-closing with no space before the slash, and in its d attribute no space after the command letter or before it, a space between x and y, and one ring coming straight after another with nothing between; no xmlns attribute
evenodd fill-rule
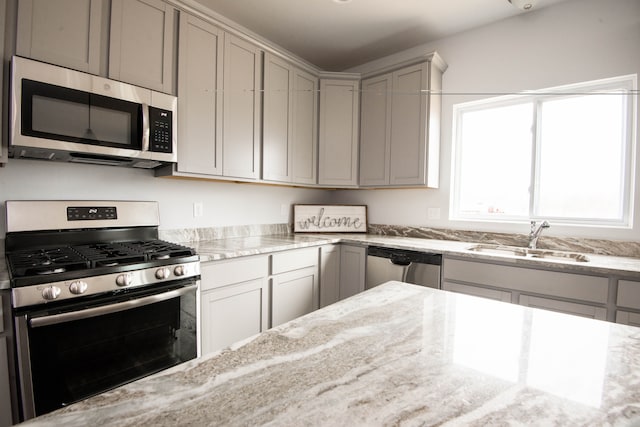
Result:
<svg viewBox="0 0 640 427"><path fill-rule="evenodd" d="M319 248L271 255L271 327L318 309Z"/></svg>

